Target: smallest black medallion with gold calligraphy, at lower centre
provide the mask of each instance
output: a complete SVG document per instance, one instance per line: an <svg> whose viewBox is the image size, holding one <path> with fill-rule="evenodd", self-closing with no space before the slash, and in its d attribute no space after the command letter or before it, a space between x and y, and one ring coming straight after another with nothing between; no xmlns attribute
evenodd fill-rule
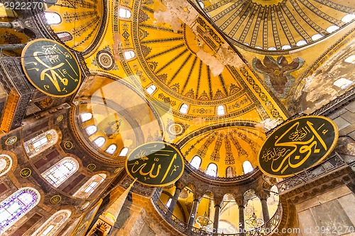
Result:
<svg viewBox="0 0 355 236"><path fill-rule="evenodd" d="M180 151L166 142L149 142L136 147L126 160L126 171L141 184L167 186L184 172Z"/></svg>

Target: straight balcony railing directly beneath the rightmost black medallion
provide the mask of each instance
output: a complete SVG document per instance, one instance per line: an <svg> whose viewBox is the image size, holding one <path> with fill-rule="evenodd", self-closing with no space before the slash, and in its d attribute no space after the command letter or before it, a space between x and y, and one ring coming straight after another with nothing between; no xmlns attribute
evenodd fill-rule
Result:
<svg viewBox="0 0 355 236"><path fill-rule="evenodd" d="M347 164L346 162L344 162L344 159L342 159L342 157L337 152L334 152L332 156L328 157L321 164L317 164L311 169L307 169L300 174L280 181L280 183L278 183L278 191L280 193L282 193L283 191L288 191L301 184L305 184L307 181L316 179L324 174L332 172L332 170L334 169L338 169L339 167L343 167L345 165ZM349 165L351 166L351 164Z"/></svg>

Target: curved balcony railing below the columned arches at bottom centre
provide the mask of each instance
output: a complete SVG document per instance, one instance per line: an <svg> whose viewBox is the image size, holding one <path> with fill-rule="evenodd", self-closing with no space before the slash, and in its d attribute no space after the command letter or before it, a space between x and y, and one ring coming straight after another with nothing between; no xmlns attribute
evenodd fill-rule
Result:
<svg viewBox="0 0 355 236"><path fill-rule="evenodd" d="M276 213L273 215L273 218L271 220L268 220L266 224L261 225L261 227L256 228L255 230L247 231L247 232L236 232L236 233L217 233L217 232L207 232L205 230L202 230L197 227L193 227L191 225L188 225L184 221L180 220L177 218L173 213L168 210L168 207L165 206L165 204L160 201L159 198L159 191L155 190L153 193L153 197L151 198L151 201L153 205L155 206L155 209L158 210L160 215L168 222L170 225L175 227L176 230L182 232L185 235L189 236L265 236L269 235L275 228L278 226L281 220L281 214L282 214L282 208L281 204L278 204L278 210L276 210Z"/></svg>

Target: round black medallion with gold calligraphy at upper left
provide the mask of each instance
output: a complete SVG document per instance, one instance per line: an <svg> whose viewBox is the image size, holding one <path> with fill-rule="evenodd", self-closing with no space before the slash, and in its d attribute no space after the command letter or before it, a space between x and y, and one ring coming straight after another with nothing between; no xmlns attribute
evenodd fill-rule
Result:
<svg viewBox="0 0 355 236"><path fill-rule="evenodd" d="M22 68L43 94L65 97L79 89L81 72L77 60L54 40L39 38L28 43L22 51Z"/></svg>

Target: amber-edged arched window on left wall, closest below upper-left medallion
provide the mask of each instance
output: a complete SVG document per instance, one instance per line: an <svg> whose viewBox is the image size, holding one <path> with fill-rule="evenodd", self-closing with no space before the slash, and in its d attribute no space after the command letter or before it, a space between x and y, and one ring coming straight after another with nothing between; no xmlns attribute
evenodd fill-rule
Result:
<svg viewBox="0 0 355 236"><path fill-rule="evenodd" d="M30 157L34 157L36 154L43 152L55 145L58 142L58 133L55 130L47 130L45 133L41 133L33 137L24 143L25 150Z"/></svg>

